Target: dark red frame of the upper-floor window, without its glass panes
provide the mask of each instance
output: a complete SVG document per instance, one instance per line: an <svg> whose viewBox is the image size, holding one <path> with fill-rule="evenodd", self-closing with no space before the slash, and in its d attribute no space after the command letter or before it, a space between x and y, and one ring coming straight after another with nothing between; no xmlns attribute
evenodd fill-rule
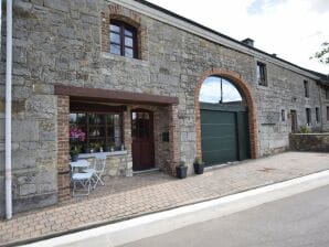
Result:
<svg viewBox="0 0 329 247"><path fill-rule="evenodd" d="M112 25L115 25L115 26L118 26L119 28L119 31L116 32L116 31L113 31L110 28ZM108 37L109 37L109 53L110 54L115 54L115 55L120 55L120 56L125 56L125 57L128 57L128 58L138 58L138 36L137 36L137 29L132 25L129 25L127 24L126 22L123 22L123 21L118 21L118 20L110 20L110 23L108 24ZM129 31L131 32L131 35L127 35L125 31ZM116 43L114 41L112 41L112 34L115 33L115 34L118 34L119 35L119 43ZM132 39L132 46L130 45L126 45L126 37L128 39ZM120 54L118 53L114 53L112 51L112 45L118 45L119 46L119 51L120 51ZM132 50L132 57L131 56L128 56L126 54L126 49L130 49Z"/></svg>

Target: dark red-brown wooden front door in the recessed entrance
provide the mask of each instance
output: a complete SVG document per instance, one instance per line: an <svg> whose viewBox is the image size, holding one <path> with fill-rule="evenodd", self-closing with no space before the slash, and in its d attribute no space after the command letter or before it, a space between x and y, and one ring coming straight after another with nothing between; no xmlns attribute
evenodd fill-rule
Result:
<svg viewBox="0 0 329 247"><path fill-rule="evenodd" d="M132 170L155 168L153 115L145 110L131 112Z"/></svg>

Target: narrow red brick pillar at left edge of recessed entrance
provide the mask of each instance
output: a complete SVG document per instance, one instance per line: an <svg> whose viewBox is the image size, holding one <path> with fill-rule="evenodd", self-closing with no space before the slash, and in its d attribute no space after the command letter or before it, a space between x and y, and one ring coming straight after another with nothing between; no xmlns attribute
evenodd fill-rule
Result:
<svg viewBox="0 0 329 247"><path fill-rule="evenodd" d="M68 167L68 122L70 97L57 96L57 189L59 201L70 198L70 167Z"/></svg>

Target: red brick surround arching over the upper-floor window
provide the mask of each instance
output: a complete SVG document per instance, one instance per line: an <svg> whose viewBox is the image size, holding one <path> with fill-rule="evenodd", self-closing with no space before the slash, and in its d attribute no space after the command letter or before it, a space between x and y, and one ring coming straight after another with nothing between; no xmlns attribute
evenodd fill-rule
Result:
<svg viewBox="0 0 329 247"><path fill-rule="evenodd" d="M137 50L139 60L148 60L148 32L146 24L141 21L141 15L134 10L125 9L115 3L108 4L102 12L102 52L109 50L109 30L112 20L125 22L137 30Z"/></svg>

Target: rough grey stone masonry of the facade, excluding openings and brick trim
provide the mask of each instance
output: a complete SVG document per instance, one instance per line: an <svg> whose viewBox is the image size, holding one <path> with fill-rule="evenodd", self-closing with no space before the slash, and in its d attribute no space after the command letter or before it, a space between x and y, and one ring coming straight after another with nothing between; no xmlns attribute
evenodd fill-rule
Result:
<svg viewBox="0 0 329 247"><path fill-rule="evenodd" d="M127 19L138 20L147 56L141 60L110 54L102 49L102 13L117 9ZM236 73L251 88L256 103L258 155L288 148L291 122L306 125L311 109L311 128L326 121L323 92L316 80L267 60L229 49L190 32L160 22L105 0L15 0L13 7L13 206L14 212L57 202L57 95L54 85L145 93L179 98L179 150L189 165L197 153L195 86L212 68ZM6 18L6 14L4 14ZM0 214L4 205L4 47L2 19L0 82ZM128 19L127 19L128 20ZM256 80L257 61L266 64L268 86ZM309 82L309 98L304 95ZM328 101L326 101L328 105ZM150 104L151 105L151 104ZM152 107L152 106L150 106ZM321 108L316 122L315 108ZM280 118L285 110L285 121ZM159 108L158 131L168 131L168 109ZM325 126L325 124L323 124ZM159 132L156 138L160 139ZM157 140L156 140L157 141ZM156 147L157 146L156 143ZM162 168L169 147L157 149L157 167ZM131 173L131 161L129 164ZM118 174L117 171L107 171Z"/></svg>

